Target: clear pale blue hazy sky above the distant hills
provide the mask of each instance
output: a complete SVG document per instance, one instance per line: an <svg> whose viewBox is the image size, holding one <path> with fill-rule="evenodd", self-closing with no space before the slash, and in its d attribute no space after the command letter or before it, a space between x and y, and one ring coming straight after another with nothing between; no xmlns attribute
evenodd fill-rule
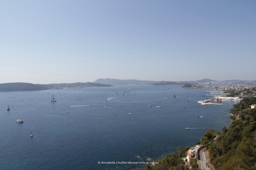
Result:
<svg viewBox="0 0 256 170"><path fill-rule="evenodd" d="M256 0L1 0L0 83L256 79Z"/></svg>

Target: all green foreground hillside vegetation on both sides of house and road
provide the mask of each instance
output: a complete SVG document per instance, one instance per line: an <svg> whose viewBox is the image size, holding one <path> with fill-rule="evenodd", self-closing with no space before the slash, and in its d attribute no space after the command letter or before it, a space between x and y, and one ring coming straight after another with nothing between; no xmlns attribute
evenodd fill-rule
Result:
<svg viewBox="0 0 256 170"><path fill-rule="evenodd" d="M256 97L246 97L235 104L230 109L230 127L222 127L222 134L209 129L200 140L215 170L256 170L256 108L251 109L252 104L256 104ZM179 147L177 152L157 160L159 164L147 165L143 170L188 170L182 158L189 148ZM192 170L199 170L196 162L188 162Z"/></svg>

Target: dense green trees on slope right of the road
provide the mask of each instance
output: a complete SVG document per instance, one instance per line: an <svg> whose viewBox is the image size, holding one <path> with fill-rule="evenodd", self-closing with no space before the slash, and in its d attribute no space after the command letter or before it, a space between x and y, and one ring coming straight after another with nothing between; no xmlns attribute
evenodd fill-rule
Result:
<svg viewBox="0 0 256 170"><path fill-rule="evenodd" d="M216 140L202 138L208 142L210 162L216 170L256 170L256 108L251 109L252 104L256 97L235 104L230 109L234 119L230 127L224 126Z"/></svg>

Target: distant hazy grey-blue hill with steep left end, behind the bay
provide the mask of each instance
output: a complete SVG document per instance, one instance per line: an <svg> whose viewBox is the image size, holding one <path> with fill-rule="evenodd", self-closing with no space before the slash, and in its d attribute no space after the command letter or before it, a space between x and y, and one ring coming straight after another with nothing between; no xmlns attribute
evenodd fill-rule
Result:
<svg viewBox="0 0 256 170"><path fill-rule="evenodd" d="M102 84L152 84L156 81L146 81L138 79L97 79L93 83L102 83Z"/></svg>

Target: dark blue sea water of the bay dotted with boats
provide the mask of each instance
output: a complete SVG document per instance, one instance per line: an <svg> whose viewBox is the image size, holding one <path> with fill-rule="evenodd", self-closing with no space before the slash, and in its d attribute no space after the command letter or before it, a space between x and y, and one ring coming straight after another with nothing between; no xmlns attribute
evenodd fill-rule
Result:
<svg viewBox="0 0 256 170"><path fill-rule="evenodd" d="M101 162L161 159L179 146L194 145L209 128L229 126L227 111L235 102L194 102L205 100L208 93L151 85L0 92L0 169L144 168ZM57 102L51 102L52 94Z"/></svg>

